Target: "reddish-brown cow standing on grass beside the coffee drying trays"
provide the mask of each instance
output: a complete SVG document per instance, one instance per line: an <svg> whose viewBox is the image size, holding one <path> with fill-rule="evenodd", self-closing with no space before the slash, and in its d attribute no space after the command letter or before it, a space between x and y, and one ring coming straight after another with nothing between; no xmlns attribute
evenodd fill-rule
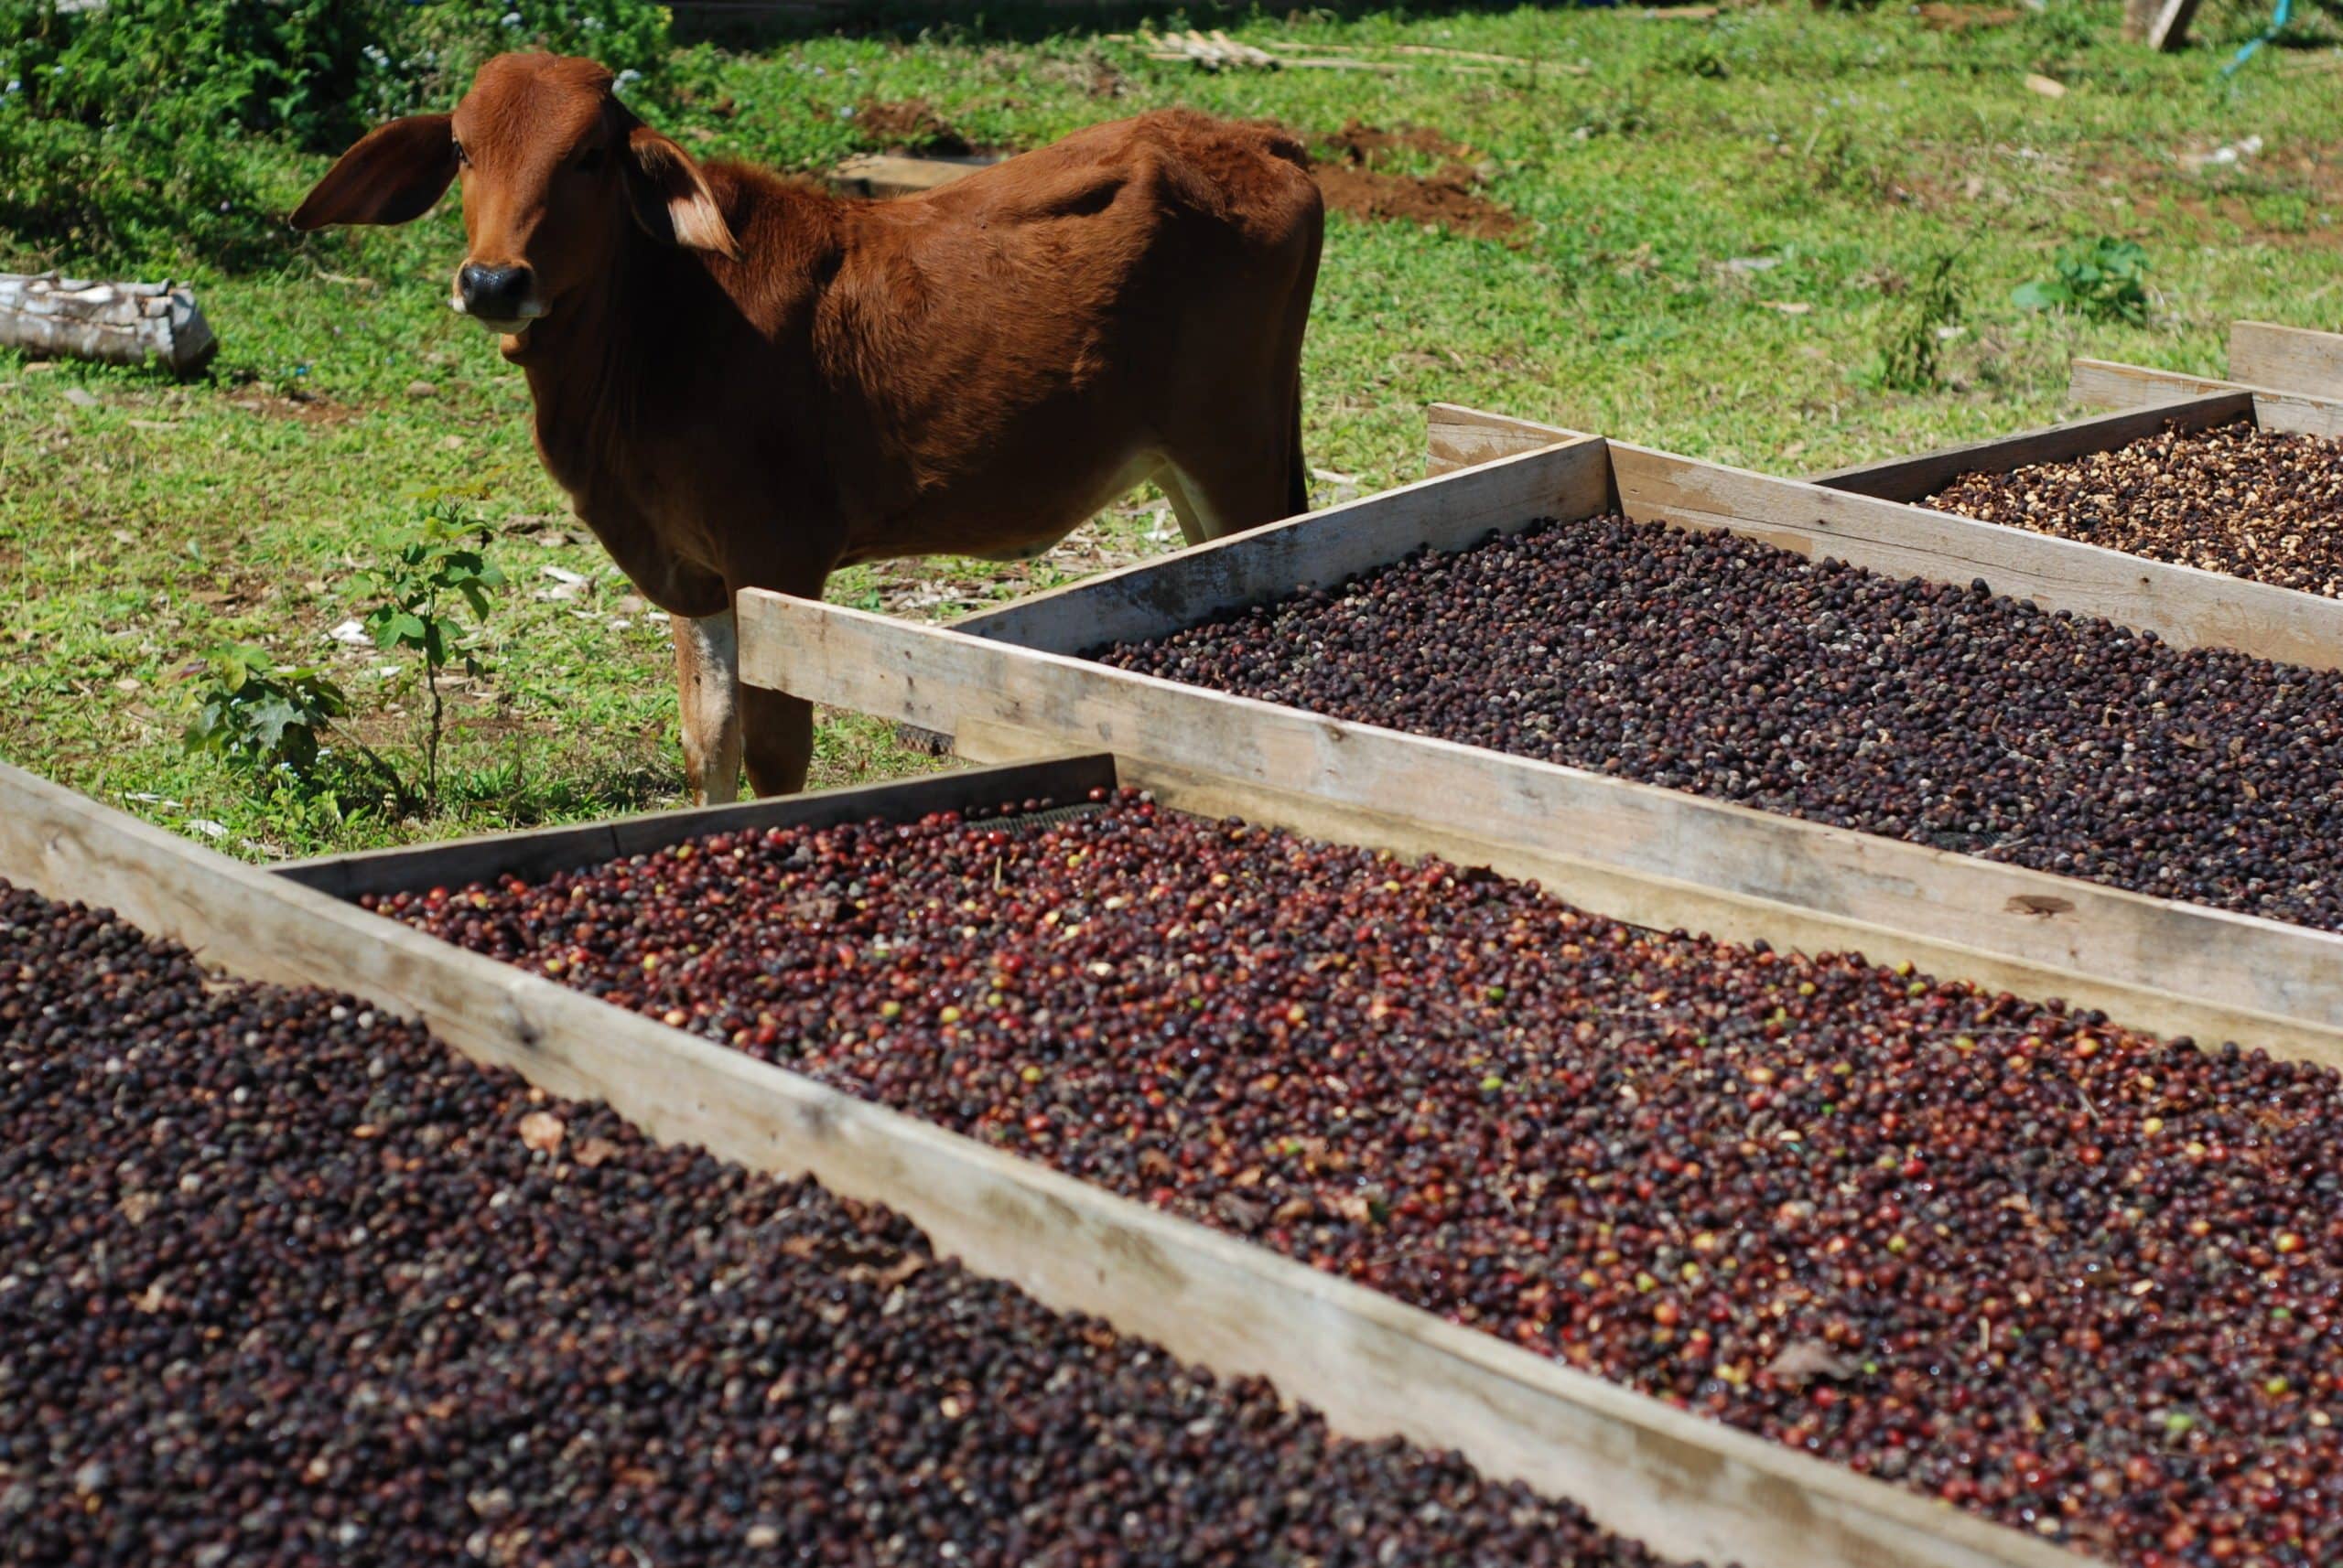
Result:
<svg viewBox="0 0 2343 1568"><path fill-rule="evenodd" d="M537 452L675 623L684 770L801 789L813 711L740 688L733 597L897 555L1040 555L1155 477L1190 541L1307 510L1324 208L1279 131L1164 110L853 201L698 164L593 61L506 54L370 131L293 227L408 222L462 176L455 309Z"/></svg>

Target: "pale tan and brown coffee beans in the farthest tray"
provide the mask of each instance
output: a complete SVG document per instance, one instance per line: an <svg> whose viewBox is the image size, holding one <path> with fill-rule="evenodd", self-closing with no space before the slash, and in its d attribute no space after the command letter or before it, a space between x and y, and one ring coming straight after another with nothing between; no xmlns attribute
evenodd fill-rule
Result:
<svg viewBox="0 0 2343 1568"><path fill-rule="evenodd" d="M2343 442L2317 435L2167 426L2064 463L1963 473L1921 506L2343 597Z"/></svg>

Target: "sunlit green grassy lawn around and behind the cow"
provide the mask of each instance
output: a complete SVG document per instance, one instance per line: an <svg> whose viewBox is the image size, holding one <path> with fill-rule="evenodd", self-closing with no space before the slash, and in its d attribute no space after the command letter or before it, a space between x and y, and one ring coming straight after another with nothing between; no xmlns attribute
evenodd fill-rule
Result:
<svg viewBox="0 0 2343 1568"><path fill-rule="evenodd" d="M2219 61L2266 12L2207 7L2200 47L2156 59L2118 42L2111 2L1921 9L1523 7L1232 28L1396 70L1209 75L1087 35L701 49L661 119L703 157L806 171L897 140L909 117L881 110L914 98L993 147L1169 103L1282 119L1336 161L1352 122L1418 131L1361 180L1450 180L1441 199L1469 208L1469 227L1511 227L1331 220L1307 447L1359 489L1420 473L1427 400L1799 473L2059 419L2074 353L2216 374L2233 318L2343 323L2343 75L2320 68L2336 59L2331 12L2298 23L2320 49L2273 49L2221 82ZM2029 89L2029 73L2064 96ZM2256 152L2212 157L2247 138ZM286 208L323 169L253 157ZM2010 304L2099 236L2146 248L2144 323ZM1963 311L1938 337L1917 300L1947 253ZM0 353L0 756L248 857L679 798L663 618L567 520L530 449L518 372L445 309L459 255L450 201L410 229L286 234L260 271L152 257L150 274L192 276L225 344L192 386ZM77 260L0 232L0 269ZM1895 391L1884 353L1914 330L1940 346L1938 384ZM450 491L492 529L511 587L490 672L452 695L433 812L391 819L354 777L255 789L183 754L187 669L253 641L328 667L356 735L410 756L412 662L330 630L366 608L358 569ZM956 615L1172 538L1136 496L1031 566L858 569L832 592ZM928 765L883 725L825 716L818 782Z"/></svg>

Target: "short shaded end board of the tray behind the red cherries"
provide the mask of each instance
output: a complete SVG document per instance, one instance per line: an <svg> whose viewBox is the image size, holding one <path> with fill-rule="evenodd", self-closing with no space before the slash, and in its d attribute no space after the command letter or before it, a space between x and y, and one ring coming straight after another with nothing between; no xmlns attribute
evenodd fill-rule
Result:
<svg viewBox="0 0 2343 1568"><path fill-rule="evenodd" d="M1415 545L1455 550L1492 531L1525 529L1539 517L1591 517L1607 506L1610 459L1603 442L1542 447L1104 571L972 615L958 627L1026 648L1075 653L1160 637L1216 608L1239 608L1296 587L1326 587Z"/></svg>

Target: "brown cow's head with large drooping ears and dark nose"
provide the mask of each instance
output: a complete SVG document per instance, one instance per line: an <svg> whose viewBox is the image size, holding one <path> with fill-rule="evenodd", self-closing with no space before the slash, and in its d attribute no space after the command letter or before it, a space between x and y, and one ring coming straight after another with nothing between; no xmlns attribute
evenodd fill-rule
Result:
<svg viewBox="0 0 2343 1568"><path fill-rule="evenodd" d="M593 61L499 54L455 115L368 131L293 213L295 229L408 222L464 180L469 248L450 304L525 335L614 262L626 225L736 255L691 154L635 119Z"/></svg>

